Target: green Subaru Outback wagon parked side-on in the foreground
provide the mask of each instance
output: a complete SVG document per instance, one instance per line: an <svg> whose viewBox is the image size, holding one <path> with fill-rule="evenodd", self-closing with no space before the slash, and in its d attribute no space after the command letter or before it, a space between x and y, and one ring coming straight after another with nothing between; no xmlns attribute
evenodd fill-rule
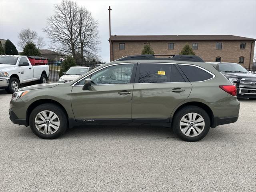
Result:
<svg viewBox="0 0 256 192"><path fill-rule="evenodd" d="M198 141L210 127L236 122L236 86L218 64L198 56L127 56L76 80L18 89L10 120L54 139L67 128L98 124L170 126L182 140Z"/></svg>

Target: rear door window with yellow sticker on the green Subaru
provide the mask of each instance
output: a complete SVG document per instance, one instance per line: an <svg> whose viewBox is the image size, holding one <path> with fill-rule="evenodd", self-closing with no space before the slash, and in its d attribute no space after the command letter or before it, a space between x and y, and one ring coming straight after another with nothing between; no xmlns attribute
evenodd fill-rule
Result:
<svg viewBox="0 0 256 192"><path fill-rule="evenodd" d="M140 64L138 83L184 82L173 64Z"/></svg>

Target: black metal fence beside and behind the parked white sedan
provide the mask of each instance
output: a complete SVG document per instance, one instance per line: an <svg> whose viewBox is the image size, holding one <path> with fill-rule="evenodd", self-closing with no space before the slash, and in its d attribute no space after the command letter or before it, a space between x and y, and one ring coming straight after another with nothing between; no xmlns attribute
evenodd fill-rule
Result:
<svg viewBox="0 0 256 192"><path fill-rule="evenodd" d="M104 62L105 63L105 62ZM48 60L50 75L48 76L48 82L58 81L60 78L60 70L62 69L62 60L54 61ZM92 69L102 65L102 63L97 62L76 62L77 66L86 66Z"/></svg>

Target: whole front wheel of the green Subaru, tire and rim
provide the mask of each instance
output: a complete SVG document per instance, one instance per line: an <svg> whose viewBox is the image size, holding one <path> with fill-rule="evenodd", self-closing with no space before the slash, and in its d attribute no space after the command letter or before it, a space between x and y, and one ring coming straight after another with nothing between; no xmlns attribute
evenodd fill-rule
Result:
<svg viewBox="0 0 256 192"><path fill-rule="evenodd" d="M65 112L55 104L42 104L34 108L29 124L34 134L43 139L55 139L68 127Z"/></svg>

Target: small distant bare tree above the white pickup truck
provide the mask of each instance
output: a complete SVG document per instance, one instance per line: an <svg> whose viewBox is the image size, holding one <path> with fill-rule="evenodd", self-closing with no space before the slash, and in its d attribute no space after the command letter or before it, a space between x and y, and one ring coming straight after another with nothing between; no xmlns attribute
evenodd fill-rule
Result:
<svg viewBox="0 0 256 192"><path fill-rule="evenodd" d="M20 39L18 46L24 48L27 43L35 42L37 37L38 34L35 31L30 30L29 28L22 29L18 35L18 38Z"/></svg>

